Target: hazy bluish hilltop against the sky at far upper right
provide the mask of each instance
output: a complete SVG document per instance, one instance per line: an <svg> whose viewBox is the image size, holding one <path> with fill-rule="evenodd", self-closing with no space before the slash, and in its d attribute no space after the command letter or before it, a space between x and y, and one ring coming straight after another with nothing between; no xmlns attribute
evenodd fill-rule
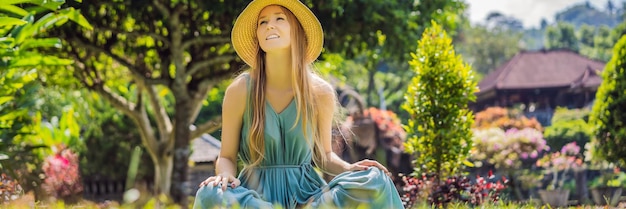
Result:
<svg viewBox="0 0 626 209"><path fill-rule="evenodd" d="M594 8L589 3L583 3L557 13L554 19L556 22L571 23L576 26L576 28L579 28L583 24L592 26L607 25L613 28L621 22L621 16L622 15L617 12L610 13L606 10L601 11Z"/></svg>

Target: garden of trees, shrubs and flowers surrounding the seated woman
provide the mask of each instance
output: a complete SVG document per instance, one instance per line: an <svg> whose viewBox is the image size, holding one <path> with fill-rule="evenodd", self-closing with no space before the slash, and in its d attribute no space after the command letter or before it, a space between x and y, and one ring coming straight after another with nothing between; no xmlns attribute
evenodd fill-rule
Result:
<svg viewBox="0 0 626 209"><path fill-rule="evenodd" d="M336 18L326 28L348 29L329 29L316 68L363 96L336 124L354 132L341 148L361 150L340 156L383 162L406 208L626 207L626 35L593 105L558 107L542 125L519 104L470 108L484 75L453 44L465 5L438 2L307 1ZM208 162L191 161L201 150L190 144L220 137L223 94L241 70L224 31L247 3L1 2L0 207L191 207L189 176ZM388 32L407 28L420 33Z"/></svg>

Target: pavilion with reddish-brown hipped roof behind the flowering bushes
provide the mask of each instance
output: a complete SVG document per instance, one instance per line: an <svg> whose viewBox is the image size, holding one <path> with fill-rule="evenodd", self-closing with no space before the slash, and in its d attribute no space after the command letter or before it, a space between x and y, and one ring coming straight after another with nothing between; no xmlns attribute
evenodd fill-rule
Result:
<svg viewBox="0 0 626 209"><path fill-rule="evenodd" d="M557 106L582 108L593 102L604 66L569 50L522 51L485 76L471 107L519 105L526 116L549 125Z"/></svg>

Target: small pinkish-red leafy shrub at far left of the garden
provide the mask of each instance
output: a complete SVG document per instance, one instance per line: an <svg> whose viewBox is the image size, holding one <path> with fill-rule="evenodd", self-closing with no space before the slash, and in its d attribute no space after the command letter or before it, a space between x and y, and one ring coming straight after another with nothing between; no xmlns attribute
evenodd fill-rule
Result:
<svg viewBox="0 0 626 209"><path fill-rule="evenodd" d="M63 146L55 149L55 154L48 156L43 164L46 177L42 186L52 197L75 203L83 191L78 155Z"/></svg>

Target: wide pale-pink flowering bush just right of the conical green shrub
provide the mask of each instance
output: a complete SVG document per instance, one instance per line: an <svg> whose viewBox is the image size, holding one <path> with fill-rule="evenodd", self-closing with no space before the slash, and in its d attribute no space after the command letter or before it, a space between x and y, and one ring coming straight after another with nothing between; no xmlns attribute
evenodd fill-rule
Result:
<svg viewBox="0 0 626 209"><path fill-rule="evenodd" d="M477 167L493 165L498 169L520 169L528 167L529 162L534 163L550 149L541 132L532 128L513 128L506 132L500 128L474 129L472 140L474 145L469 159Z"/></svg>

